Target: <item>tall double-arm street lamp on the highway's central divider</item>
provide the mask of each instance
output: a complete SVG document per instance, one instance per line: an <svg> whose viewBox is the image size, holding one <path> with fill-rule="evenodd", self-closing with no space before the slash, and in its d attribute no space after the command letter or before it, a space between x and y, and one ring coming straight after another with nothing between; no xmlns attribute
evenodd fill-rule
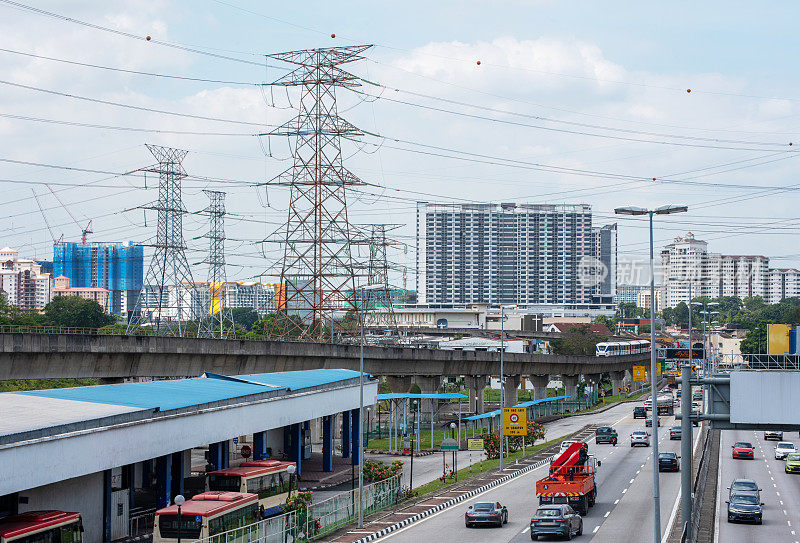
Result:
<svg viewBox="0 0 800 543"><path fill-rule="evenodd" d="M653 542L661 541L661 499L658 484L658 402L656 400L656 287L655 263L653 260L653 215L671 215L688 211L687 206L666 205L656 209L643 207L618 207L614 210L617 215L648 215L650 217L650 403L653 406ZM686 500L684 500L686 501ZM691 503L684 504L684 522L689 517L685 514L686 506L691 513Z"/></svg>

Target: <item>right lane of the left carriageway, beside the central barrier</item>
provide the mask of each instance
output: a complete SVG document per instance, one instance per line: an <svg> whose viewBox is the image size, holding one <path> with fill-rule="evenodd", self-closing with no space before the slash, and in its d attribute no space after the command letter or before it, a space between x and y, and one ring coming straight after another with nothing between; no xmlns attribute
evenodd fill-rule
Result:
<svg viewBox="0 0 800 543"><path fill-rule="evenodd" d="M662 417L662 421L663 425L659 427L659 452L672 451L680 456L681 442L669 439L668 429L674 424L674 418ZM620 534L626 534L626 542L653 540L653 447L636 449L646 452L633 462L635 476L624 481L624 488L615 498L615 501L619 502L608 518L594 531L591 541L616 542L619 541ZM683 467L681 462L681 469ZM680 492L680 472L662 472L659 477L659 490L663 534L673 512L675 498Z"/></svg>

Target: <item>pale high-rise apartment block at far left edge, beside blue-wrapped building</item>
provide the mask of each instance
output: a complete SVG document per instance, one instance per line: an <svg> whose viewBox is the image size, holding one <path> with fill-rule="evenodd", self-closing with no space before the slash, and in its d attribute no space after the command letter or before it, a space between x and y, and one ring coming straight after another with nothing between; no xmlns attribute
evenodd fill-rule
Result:
<svg viewBox="0 0 800 543"><path fill-rule="evenodd" d="M20 309L42 310L51 300L50 274L42 273L35 260L20 258L18 251L0 249L0 295Z"/></svg>

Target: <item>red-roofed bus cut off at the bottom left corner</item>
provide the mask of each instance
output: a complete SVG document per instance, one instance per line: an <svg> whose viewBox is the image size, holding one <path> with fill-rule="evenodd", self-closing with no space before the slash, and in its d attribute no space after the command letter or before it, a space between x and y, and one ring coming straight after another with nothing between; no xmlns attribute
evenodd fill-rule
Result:
<svg viewBox="0 0 800 543"><path fill-rule="evenodd" d="M28 511L0 518L0 543L80 543L80 513Z"/></svg>

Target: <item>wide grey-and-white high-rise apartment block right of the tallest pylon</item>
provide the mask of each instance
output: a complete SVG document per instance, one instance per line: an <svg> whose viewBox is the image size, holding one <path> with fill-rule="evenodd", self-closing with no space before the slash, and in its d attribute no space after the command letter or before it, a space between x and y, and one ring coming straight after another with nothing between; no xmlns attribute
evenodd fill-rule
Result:
<svg viewBox="0 0 800 543"><path fill-rule="evenodd" d="M613 234L613 235L612 235ZM616 228L592 229L588 205L417 204L417 293L422 304L588 304L597 248L616 266Z"/></svg>

